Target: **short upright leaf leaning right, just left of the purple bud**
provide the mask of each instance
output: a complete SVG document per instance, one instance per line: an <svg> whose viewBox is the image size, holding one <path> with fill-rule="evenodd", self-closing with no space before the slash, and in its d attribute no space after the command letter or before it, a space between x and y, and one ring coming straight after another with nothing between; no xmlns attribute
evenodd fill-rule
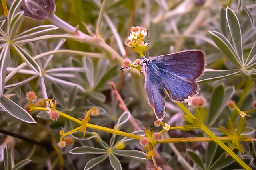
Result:
<svg viewBox="0 0 256 170"><path fill-rule="evenodd" d="M10 25L9 25L9 32L8 37L9 39L13 39L16 31L18 30L18 27L20 26L20 23L22 21L24 11L17 13L14 18L12 18Z"/></svg>

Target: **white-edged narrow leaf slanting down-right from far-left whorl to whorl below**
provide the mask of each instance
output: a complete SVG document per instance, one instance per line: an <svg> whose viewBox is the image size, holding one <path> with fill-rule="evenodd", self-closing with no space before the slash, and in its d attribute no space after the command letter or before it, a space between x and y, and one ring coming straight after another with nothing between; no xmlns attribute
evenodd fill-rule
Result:
<svg viewBox="0 0 256 170"><path fill-rule="evenodd" d="M42 75L42 71L38 63L36 62L33 57L31 57L22 47L19 45L13 44L14 49L17 51L17 53L24 59L24 61L30 66L32 70L34 70L38 75Z"/></svg>

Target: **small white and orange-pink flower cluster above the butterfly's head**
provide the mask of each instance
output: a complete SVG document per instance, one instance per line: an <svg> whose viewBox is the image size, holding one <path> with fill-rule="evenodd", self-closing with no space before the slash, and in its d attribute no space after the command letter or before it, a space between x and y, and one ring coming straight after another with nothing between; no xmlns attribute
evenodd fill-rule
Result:
<svg viewBox="0 0 256 170"><path fill-rule="evenodd" d="M143 57L143 52L148 49L148 43L144 42L144 38L147 35L147 29L136 26L132 27L130 32L130 35L124 41L125 45L131 47L133 51L140 54L140 57Z"/></svg>

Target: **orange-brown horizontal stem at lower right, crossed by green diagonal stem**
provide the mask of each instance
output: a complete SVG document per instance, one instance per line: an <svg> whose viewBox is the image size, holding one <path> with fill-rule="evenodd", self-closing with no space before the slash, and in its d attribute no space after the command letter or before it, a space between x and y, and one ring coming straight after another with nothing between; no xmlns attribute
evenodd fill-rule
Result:
<svg viewBox="0 0 256 170"><path fill-rule="evenodd" d="M231 142L234 140L234 137L217 137L222 142ZM236 138L237 139L237 138ZM240 141L246 141L246 142L252 142L255 140L255 138L247 138L246 140L240 140ZM180 143L180 142L210 142L213 141L210 137L178 137L178 138L166 138L158 141L158 143Z"/></svg>

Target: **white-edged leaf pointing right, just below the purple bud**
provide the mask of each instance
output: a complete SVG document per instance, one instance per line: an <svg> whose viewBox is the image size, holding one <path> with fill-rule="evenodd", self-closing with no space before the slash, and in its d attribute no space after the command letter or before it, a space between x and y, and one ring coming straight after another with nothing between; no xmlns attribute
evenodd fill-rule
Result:
<svg viewBox="0 0 256 170"><path fill-rule="evenodd" d="M15 42L23 39L31 39L31 38L39 37L41 35L48 34L51 31L54 31L56 29L58 29L58 27L54 25L40 25L38 27L33 27L32 29L29 29L27 31L24 31L18 34L16 37L14 37L13 41Z"/></svg>

